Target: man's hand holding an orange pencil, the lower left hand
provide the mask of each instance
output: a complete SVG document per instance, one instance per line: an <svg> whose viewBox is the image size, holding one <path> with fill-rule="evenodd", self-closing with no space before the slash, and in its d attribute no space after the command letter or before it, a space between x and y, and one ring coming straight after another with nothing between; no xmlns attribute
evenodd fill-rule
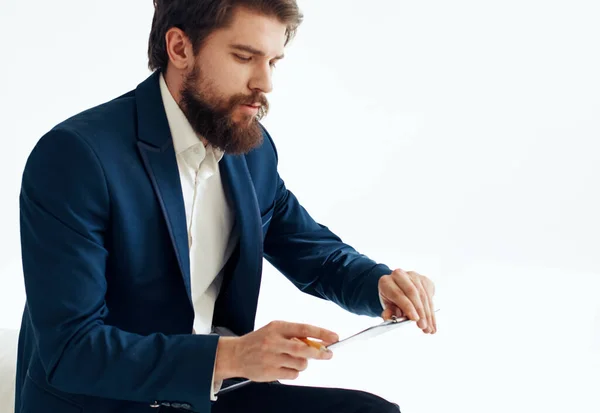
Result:
<svg viewBox="0 0 600 413"><path fill-rule="evenodd" d="M311 337L324 346L339 341L331 331L283 321L273 321L242 337L220 337L215 382L231 377L256 382L294 380L306 369L308 359L329 360L333 355L298 340Z"/></svg>

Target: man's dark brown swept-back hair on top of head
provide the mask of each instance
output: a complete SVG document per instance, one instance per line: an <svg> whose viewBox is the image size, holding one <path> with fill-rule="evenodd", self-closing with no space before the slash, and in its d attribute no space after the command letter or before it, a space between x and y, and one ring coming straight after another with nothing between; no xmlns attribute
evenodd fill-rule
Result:
<svg viewBox="0 0 600 413"><path fill-rule="evenodd" d="M148 40L150 70L167 68L169 55L165 36L172 27L181 29L191 40L194 54L214 30L231 24L235 7L273 16L287 26L287 44L302 23L296 0L154 0L154 17Z"/></svg>

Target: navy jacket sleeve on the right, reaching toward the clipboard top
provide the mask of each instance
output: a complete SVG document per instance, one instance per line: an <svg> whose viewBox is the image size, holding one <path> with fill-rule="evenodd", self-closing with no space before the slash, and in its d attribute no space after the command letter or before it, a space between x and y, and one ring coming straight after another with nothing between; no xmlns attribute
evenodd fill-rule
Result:
<svg viewBox="0 0 600 413"><path fill-rule="evenodd" d="M378 282L392 272L390 268L315 222L279 174L274 208L264 242L267 261L301 291L358 315L380 316Z"/></svg>

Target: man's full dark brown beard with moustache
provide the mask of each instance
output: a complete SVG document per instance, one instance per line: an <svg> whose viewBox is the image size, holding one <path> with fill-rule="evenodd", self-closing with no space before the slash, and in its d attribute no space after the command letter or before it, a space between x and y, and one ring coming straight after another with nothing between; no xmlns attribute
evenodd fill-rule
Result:
<svg viewBox="0 0 600 413"><path fill-rule="evenodd" d="M204 93L199 89L204 90ZM213 93L210 93L210 83L202 79L198 65L186 75L180 94L181 109L192 129L213 147L228 154L241 155L262 144L263 132L259 120L269 110L268 101L263 94L237 94L229 99L219 100L217 96L211 96ZM216 103L211 104L209 100ZM233 110L238 105L257 102L261 104L257 115L246 115L238 122L232 119Z"/></svg>

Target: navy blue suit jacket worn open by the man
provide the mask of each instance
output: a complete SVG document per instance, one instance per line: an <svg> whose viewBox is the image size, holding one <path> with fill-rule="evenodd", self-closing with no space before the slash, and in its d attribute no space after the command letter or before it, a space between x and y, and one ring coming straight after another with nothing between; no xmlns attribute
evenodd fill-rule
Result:
<svg viewBox="0 0 600 413"><path fill-rule="evenodd" d="M191 334L185 209L158 79L59 124L27 160L17 413L210 411L218 337ZM240 240L214 325L254 329L263 257L300 290L378 316L377 282L391 270L310 217L264 137L220 162Z"/></svg>

